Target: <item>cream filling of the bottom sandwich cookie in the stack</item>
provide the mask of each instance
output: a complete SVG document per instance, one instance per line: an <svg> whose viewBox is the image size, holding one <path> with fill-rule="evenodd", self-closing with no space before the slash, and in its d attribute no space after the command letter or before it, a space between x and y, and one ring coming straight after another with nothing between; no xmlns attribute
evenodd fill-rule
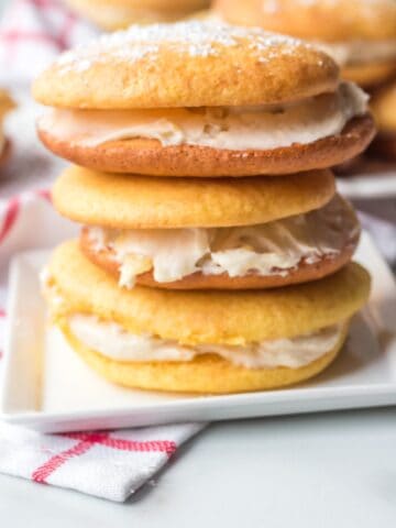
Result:
<svg viewBox="0 0 396 528"><path fill-rule="evenodd" d="M290 339L251 343L244 346L220 344L182 345L177 341L153 336L136 336L114 322L101 322L92 316L68 318L69 329L78 341L116 361L191 361L201 354L217 354L245 369L299 369L334 349L344 323Z"/></svg>

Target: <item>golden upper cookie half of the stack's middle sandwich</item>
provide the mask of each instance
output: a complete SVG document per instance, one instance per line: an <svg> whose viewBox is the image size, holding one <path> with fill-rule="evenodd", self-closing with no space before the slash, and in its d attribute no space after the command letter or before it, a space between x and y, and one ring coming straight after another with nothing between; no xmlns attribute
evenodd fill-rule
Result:
<svg viewBox="0 0 396 528"><path fill-rule="evenodd" d="M150 178L72 166L55 183L61 215L117 229L228 227L264 223L327 204L330 170L278 178Z"/></svg>

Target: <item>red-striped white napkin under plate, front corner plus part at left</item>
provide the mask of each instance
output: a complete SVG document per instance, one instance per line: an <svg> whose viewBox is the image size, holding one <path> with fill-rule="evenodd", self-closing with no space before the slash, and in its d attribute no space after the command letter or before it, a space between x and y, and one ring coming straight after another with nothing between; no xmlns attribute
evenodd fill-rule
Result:
<svg viewBox="0 0 396 528"><path fill-rule="evenodd" d="M0 201L0 351L4 344L10 258L28 249L51 248L76 234L76 229L55 212L46 190ZM0 371L2 363L0 359ZM0 472L125 501L151 482L177 448L202 427L182 424L41 435L0 424Z"/></svg>

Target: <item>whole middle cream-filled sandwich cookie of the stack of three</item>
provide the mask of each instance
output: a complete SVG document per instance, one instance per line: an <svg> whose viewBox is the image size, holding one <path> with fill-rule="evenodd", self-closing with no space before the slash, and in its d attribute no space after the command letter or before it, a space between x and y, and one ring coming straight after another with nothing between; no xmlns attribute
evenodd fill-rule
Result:
<svg viewBox="0 0 396 528"><path fill-rule="evenodd" d="M328 170L279 178L154 178L67 169L55 208L85 228L86 256L119 285L272 288L352 257L360 226Z"/></svg>

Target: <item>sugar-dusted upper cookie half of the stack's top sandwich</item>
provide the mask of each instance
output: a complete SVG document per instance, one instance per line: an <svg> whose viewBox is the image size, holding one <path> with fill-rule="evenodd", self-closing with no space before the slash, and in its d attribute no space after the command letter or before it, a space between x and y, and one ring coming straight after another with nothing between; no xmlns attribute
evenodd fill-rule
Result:
<svg viewBox="0 0 396 528"><path fill-rule="evenodd" d="M324 53L257 28L131 26L67 52L33 86L42 103L127 109L280 103L334 91Z"/></svg>

